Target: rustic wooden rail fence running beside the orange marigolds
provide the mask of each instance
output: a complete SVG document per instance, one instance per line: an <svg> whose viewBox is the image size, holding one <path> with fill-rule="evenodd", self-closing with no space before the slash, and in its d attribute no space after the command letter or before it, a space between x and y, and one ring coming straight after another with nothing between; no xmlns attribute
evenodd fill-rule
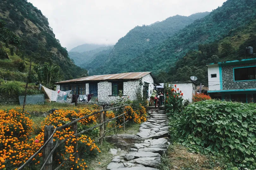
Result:
<svg viewBox="0 0 256 170"><path fill-rule="evenodd" d="M83 134L89 130L92 130L94 129L95 127L100 127L100 138L95 140L94 142L96 141L99 141L100 144L103 143L103 140L104 140L104 136L111 132L112 130L120 127L120 126L123 126L124 130L125 130L125 123L127 123L129 120L125 121L125 106L128 106L128 105L122 105L122 106L118 106L118 107L113 107L113 108L109 108L109 109L104 109L103 110L103 107L100 106L100 111L96 111L96 112L93 112L89 115L86 115L86 116L83 116L83 117L80 117L80 118L77 118L77 119L73 119L71 122L65 124L65 125L62 125L60 127L56 127L54 129L53 126L45 126L45 131L44 131L44 144L43 146L40 147L39 150L36 151L36 153L34 155L32 155L21 167L18 168L18 170L21 170L23 169L24 167L26 167L29 162L31 162L33 160L34 157L36 157L42 150L43 150L43 166L41 167L41 170L52 170L52 154L54 153L54 151L61 145L63 144L68 138L66 139L63 139L63 140L57 140L56 141L56 144L53 146L53 134L59 130L59 129L63 129L65 127L69 127L72 125L72 128L73 128L73 131L74 131L74 136L79 136L80 134ZM123 108L123 113L119 116L115 116L114 118L111 118L111 119L108 119L106 120L106 113L107 111L109 110L114 110L114 109L119 109L119 108ZM93 115L96 115L100 113L100 124L97 124L93 127L90 127L88 129L85 129L85 130L82 130L81 132L77 133L77 122L82 120L82 119L85 119L85 118L88 118L89 116L93 116ZM108 131L106 131L106 123L107 122L110 122L112 120L115 120L119 117L123 116L123 123L120 124L119 126L117 127L114 127ZM76 143L76 146L75 148L77 148L77 143ZM73 156L76 156L76 153L73 153ZM55 168L55 170L58 170L60 167L62 167L62 165L64 164L64 162L62 162L57 168Z"/></svg>

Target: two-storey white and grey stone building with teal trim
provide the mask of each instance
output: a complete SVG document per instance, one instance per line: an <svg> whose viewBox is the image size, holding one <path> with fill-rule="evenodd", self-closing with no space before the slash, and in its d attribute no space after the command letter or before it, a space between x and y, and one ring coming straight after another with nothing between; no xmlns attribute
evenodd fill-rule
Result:
<svg viewBox="0 0 256 170"><path fill-rule="evenodd" d="M218 62L208 67L208 93L214 99L256 102L256 58Z"/></svg>

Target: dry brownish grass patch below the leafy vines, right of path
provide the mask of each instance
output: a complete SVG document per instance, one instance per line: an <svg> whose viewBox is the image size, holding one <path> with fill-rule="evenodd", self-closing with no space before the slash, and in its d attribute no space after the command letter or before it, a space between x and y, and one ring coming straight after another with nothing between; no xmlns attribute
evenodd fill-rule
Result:
<svg viewBox="0 0 256 170"><path fill-rule="evenodd" d="M169 145L166 155L161 157L160 170L169 169L227 169L231 168L230 163L225 157L195 154L180 144Z"/></svg>

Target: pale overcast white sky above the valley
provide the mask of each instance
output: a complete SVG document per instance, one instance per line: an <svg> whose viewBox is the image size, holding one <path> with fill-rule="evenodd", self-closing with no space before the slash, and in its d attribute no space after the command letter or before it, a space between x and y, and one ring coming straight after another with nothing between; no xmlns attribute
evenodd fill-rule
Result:
<svg viewBox="0 0 256 170"><path fill-rule="evenodd" d="M63 47L115 44L139 25L176 14L211 12L226 0L28 0L48 18Z"/></svg>

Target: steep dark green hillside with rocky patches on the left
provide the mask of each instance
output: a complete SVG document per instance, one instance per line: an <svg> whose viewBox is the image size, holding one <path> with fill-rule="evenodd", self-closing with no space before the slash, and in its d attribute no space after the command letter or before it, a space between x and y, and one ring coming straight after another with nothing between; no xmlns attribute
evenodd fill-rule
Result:
<svg viewBox="0 0 256 170"><path fill-rule="evenodd" d="M45 68L52 69L52 75L55 75L51 83L87 75L86 70L70 60L66 48L55 38L47 18L31 3L26 0L0 1L0 20L2 30L17 37L15 44L3 38L0 40L0 55L9 56L5 57L9 59L0 59L0 78L26 81L30 59L33 62L31 81L40 80ZM4 32L0 32L0 37L4 36ZM55 74L56 71L59 74Z"/></svg>

